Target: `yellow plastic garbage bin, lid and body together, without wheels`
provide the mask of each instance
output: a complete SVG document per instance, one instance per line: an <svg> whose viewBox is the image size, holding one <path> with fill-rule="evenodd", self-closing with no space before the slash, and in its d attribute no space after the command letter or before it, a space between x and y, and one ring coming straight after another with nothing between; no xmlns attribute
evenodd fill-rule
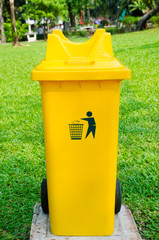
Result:
<svg viewBox="0 0 159 240"><path fill-rule="evenodd" d="M52 233L111 235L120 84L130 70L114 58L104 29L83 43L54 30L31 77L41 86Z"/></svg>

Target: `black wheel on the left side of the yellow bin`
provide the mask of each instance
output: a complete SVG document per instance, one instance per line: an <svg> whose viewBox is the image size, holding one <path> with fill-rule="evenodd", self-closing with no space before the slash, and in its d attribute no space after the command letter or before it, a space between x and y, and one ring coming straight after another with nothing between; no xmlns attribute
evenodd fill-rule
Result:
<svg viewBox="0 0 159 240"><path fill-rule="evenodd" d="M46 178L44 178L41 183L41 207L42 207L42 210L44 211L44 213L49 212Z"/></svg>

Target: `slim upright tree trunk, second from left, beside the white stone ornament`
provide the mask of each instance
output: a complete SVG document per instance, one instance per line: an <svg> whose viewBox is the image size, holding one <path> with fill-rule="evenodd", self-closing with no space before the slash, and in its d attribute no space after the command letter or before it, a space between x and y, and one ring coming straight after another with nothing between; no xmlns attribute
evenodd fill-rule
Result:
<svg viewBox="0 0 159 240"><path fill-rule="evenodd" d="M13 45L20 46L18 34L17 34L17 28L16 28L15 13L14 13L14 0L9 0L9 2L10 2L10 15L12 19L13 32L14 32Z"/></svg>

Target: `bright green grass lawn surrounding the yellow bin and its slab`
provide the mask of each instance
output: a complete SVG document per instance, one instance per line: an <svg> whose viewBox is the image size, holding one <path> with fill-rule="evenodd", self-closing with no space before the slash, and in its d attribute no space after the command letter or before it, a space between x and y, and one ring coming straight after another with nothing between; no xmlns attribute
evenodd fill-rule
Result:
<svg viewBox="0 0 159 240"><path fill-rule="evenodd" d="M81 39L80 39L81 40ZM82 39L85 40L85 39ZM73 39L79 41L79 39ZM114 55L132 72L121 86L118 176L123 203L143 239L158 232L159 29L112 36ZM0 45L0 239L29 239L33 207L46 176L38 82L31 70L45 57L46 42Z"/></svg>

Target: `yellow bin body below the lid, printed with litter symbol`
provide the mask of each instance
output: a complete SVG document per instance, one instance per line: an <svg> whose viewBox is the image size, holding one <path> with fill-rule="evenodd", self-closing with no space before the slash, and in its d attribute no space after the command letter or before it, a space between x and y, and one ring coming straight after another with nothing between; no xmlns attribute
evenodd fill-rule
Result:
<svg viewBox="0 0 159 240"><path fill-rule="evenodd" d="M32 76L41 85L51 231L111 235L122 79L69 74Z"/></svg>

